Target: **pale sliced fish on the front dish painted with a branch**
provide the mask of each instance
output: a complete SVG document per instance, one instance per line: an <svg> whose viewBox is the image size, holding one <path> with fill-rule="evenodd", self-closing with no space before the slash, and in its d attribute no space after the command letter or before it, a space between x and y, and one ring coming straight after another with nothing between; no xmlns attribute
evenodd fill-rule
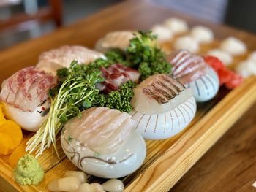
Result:
<svg viewBox="0 0 256 192"><path fill-rule="evenodd" d="M114 153L135 126L131 115L106 107L92 107L82 112L81 118L72 118L64 128L70 136L101 154Z"/></svg>

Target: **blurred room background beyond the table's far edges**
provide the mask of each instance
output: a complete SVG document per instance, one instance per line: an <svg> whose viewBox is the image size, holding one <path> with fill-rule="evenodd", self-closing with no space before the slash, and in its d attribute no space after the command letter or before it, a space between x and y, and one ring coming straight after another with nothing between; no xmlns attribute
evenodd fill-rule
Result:
<svg viewBox="0 0 256 192"><path fill-rule="evenodd" d="M0 0L0 50L68 26L121 1L125 0ZM256 32L255 0L149 1L212 23Z"/></svg>

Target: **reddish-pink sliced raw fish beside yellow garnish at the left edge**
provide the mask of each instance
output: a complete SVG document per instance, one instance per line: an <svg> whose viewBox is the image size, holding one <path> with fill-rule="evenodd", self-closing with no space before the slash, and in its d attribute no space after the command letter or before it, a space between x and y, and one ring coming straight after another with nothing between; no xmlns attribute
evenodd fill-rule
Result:
<svg viewBox="0 0 256 192"><path fill-rule="evenodd" d="M56 83L56 77L30 66L3 82L0 99L25 112L34 112L48 99L48 91Z"/></svg>

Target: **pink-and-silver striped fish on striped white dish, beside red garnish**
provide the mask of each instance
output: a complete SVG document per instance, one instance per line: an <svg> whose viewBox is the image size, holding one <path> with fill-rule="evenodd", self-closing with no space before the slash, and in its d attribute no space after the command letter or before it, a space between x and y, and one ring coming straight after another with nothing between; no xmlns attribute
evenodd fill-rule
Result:
<svg viewBox="0 0 256 192"><path fill-rule="evenodd" d="M187 50L180 50L167 57L173 65L172 75L192 88L193 96L198 102L209 101L219 91L217 73L206 64L202 57Z"/></svg>

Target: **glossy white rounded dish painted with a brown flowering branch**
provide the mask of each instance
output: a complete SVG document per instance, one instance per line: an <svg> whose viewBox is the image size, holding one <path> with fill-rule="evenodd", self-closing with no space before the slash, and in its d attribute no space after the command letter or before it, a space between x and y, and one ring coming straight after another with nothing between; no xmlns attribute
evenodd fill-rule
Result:
<svg viewBox="0 0 256 192"><path fill-rule="evenodd" d="M71 139L64 127L61 146L64 153L78 169L102 178L124 177L135 172L146 158L146 143L134 129L127 141L116 153L102 155L84 146L83 142Z"/></svg>

